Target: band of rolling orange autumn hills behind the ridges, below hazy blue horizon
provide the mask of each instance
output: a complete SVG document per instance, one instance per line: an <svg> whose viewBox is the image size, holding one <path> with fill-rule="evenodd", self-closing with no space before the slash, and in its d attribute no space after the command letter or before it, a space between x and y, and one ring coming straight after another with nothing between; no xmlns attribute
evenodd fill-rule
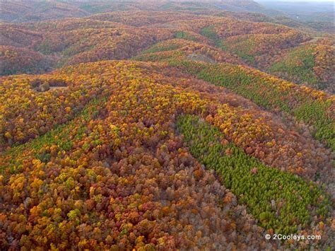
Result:
<svg viewBox="0 0 335 251"><path fill-rule="evenodd" d="M273 18L211 11L201 15L115 11L59 21L2 23L0 45L16 48L9 53L10 59L4 58L0 74L43 73L79 62L129 59L157 42L181 38L198 42L201 47L216 47L216 54L224 55L228 62L247 64L288 81L333 93L334 37L326 34L315 39L315 35L301 26L279 25ZM6 50L1 47L1 54ZM15 57L31 58L33 54L36 59L18 69L20 59ZM283 59L293 62L284 65L280 62Z"/></svg>

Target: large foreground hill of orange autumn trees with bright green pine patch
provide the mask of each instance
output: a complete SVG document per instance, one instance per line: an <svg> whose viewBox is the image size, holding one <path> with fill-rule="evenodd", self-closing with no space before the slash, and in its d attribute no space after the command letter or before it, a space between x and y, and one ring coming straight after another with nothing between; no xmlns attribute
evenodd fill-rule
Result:
<svg viewBox="0 0 335 251"><path fill-rule="evenodd" d="M249 101L192 78L164 76L159 72L165 68L98 62L3 78L2 92L8 93L0 106L7 111L1 120L3 144L13 146L0 156L1 235L6 237L1 246L276 248L281 243L259 236L266 230L330 234L324 226L329 195L319 184L331 191L331 153ZM44 81L69 83L16 98L19 90L27 93L32 83ZM4 107L6 100L13 100L11 109ZM184 115L199 116L213 129L189 131L196 124L184 124ZM189 132L214 133L214 138L190 141L200 147L195 151L183 143ZM216 144L215 154L230 160L221 163L205 144ZM222 173L221 181L206 170L215 163L242 173L230 174L233 184ZM245 180L236 180L236 187L235 177ZM258 186L264 197L240 190L266 184L264 177L278 181ZM302 200L288 195L293 191Z"/></svg>

